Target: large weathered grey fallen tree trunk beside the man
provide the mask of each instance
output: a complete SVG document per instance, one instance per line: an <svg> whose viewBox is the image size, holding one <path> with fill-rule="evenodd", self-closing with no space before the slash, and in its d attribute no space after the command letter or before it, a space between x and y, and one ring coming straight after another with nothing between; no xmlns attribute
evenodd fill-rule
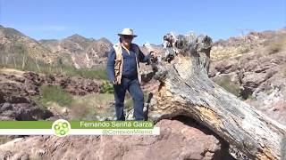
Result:
<svg viewBox="0 0 286 160"><path fill-rule="evenodd" d="M286 128L208 78L211 45L208 36L164 36L155 76L161 84L148 115L189 116L251 159L282 159Z"/></svg>

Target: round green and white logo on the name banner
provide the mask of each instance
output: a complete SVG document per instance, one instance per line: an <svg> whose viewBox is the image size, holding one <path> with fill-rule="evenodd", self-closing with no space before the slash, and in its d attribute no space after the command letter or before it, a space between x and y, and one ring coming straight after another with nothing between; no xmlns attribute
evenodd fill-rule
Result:
<svg viewBox="0 0 286 160"><path fill-rule="evenodd" d="M56 136L64 137L71 131L71 124L64 119L58 119L53 123L52 130Z"/></svg>

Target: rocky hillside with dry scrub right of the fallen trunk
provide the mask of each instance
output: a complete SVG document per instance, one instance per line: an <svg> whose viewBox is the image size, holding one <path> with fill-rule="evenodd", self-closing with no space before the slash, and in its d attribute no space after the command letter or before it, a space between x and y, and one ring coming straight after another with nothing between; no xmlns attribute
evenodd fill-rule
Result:
<svg viewBox="0 0 286 160"><path fill-rule="evenodd" d="M244 39L251 46L248 52L233 50L237 45L245 47ZM217 42L213 53L209 76L214 82L286 124L285 28Z"/></svg>

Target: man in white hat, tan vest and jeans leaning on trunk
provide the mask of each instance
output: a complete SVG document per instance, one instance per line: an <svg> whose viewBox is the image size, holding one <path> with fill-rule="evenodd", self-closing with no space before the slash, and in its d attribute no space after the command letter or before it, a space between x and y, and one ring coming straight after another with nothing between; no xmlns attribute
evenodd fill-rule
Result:
<svg viewBox="0 0 286 160"><path fill-rule="evenodd" d="M134 104L135 120L144 120L144 95L140 87L141 76L139 62L148 62L150 57L156 59L156 52L144 55L137 44L132 44L136 35L130 28L124 28L120 36L120 42L114 44L108 53L107 76L114 84L115 111L117 120L124 121L124 98L126 90L130 92Z"/></svg>

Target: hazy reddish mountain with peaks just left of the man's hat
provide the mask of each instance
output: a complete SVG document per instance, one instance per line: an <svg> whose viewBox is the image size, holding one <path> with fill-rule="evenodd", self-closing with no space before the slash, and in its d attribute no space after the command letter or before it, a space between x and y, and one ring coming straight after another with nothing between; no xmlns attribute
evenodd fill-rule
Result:
<svg viewBox="0 0 286 160"><path fill-rule="evenodd" d="M80 35L72 35L62 40L39 40L39 43L55 54L69 55L75 68L92 68L104 64L112 47L106 38L95 40Z"/></svg>

